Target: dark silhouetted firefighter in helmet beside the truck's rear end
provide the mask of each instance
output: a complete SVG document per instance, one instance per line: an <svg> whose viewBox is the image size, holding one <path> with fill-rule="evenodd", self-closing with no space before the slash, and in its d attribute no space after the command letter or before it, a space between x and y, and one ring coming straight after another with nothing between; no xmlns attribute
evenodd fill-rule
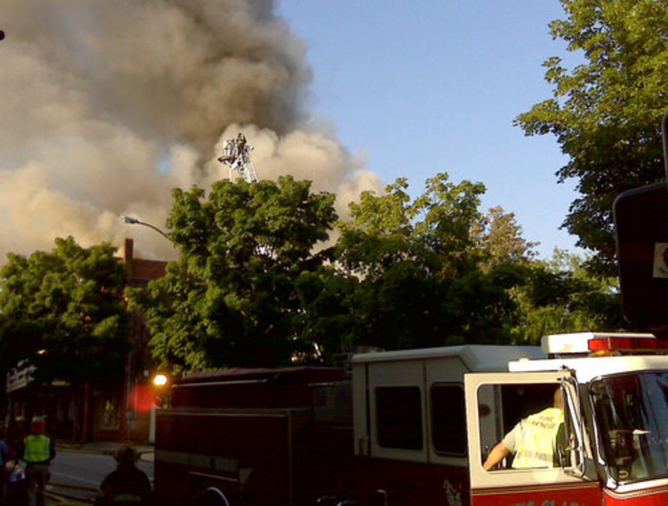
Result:
<svg viewBox="0 0 668 506"><path fill-rule="evenodd" d="M102 481L95 506L145 506L151 503L151 483L146 473L136 466L138 453L127 445L114 455L116 471Z"/></svg>

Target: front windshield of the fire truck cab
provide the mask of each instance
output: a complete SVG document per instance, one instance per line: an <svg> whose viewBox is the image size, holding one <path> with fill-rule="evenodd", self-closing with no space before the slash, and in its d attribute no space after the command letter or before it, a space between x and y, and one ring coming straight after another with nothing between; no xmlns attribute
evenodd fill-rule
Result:
<svg viewBox="0 0 668 506"><path fill-rule="evenodd" d="M609 475L668 477L668 372L609 376L592 383L591 395Z"/></svg>

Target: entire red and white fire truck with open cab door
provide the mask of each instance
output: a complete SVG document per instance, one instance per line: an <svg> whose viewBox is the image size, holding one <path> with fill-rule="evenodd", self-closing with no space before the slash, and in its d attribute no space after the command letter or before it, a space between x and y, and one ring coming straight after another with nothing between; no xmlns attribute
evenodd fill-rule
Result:
<svg viewBox="0 0 668 506"><path fill-rule="evenodd" d="M667 352L651 334L589 332L358 354L351 372L190 376L156 416L156 493L179 505L665 505ZM556 388L558 465L485 471Z"/></svg>

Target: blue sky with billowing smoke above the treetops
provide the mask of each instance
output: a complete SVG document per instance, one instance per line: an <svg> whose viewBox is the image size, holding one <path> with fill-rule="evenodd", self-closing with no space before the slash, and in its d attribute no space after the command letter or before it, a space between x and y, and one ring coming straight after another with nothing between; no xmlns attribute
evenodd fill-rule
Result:
<svg viewBox="0 0 668 506"><path fill-rule="evenodd" d="M172 189L227 178L238 132L261 179L312 180L344 219L364 190L406 177L418 196L447 172L484 183L481 209L513 212L542 256L574 250L566 160L512 125L550 97L562 15L557 0L0 0L0 258L70 235L177 258L120 218L166 229Z"/></svg>

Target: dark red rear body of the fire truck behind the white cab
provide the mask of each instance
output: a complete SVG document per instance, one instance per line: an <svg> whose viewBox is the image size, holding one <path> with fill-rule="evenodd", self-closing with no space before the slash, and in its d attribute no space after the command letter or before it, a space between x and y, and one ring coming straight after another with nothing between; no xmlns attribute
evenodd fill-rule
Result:
<svg viewBox="0 0 668 506"><path fill-rule="evenodd" d="M352 493L343 368L203 372L170 397L156 411L156 503L296 505L323 491Z"/></svg>

